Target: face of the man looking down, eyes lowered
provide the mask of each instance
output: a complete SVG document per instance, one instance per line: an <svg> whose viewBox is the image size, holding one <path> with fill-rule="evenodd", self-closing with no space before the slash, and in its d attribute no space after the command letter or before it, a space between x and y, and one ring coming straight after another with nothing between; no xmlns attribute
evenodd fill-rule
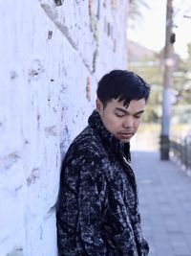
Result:
<svg viewBox="0 0 191 256"><path fill-rule="evenodd" d="M96 100L96 108L103 125L121 142L128 142L137 132L142 113L144 112L145 100L131 101L128 107L123 101L112 99L105 107Z"/></svg>

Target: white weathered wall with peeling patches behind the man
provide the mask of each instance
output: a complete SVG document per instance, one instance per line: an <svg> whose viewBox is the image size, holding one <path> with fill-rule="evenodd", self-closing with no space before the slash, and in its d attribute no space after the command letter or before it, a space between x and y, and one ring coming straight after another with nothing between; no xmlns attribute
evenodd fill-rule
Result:
<svg viewBox="0 0 191 256"><path fill-rule="evenodd" d="M126 0L0 0L0 255L54 256L61 158L126 68Z"/></svg>

